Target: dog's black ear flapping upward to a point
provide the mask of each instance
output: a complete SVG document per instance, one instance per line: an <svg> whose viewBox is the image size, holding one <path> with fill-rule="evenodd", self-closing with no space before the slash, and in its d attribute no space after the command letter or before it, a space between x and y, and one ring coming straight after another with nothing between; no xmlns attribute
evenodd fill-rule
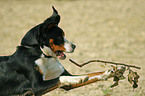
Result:
<svg viewBox="0 0 145 96"><path fill-rule="evenodd" d="M52 6L52 9L53 9L52 16L50 16L49 18L47 18L44 21L44 24L47 27L51 27L51 26L54 26L54 25L58 25L58 23L60 22L60 15L58 14L57 10L54 8L54 6Z"/></svg>

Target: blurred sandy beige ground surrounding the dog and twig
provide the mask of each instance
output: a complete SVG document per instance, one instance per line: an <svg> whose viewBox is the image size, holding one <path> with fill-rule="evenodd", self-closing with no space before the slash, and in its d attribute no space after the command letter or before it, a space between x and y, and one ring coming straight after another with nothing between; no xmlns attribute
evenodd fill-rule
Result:
<svg viewBox="0 0 145 96"><path fill-rule="evenodd" d="M112 79L71 91L56 89L44 96L145 96L145 0L0 0L0 55L10 55L33 26L52 14L54 5L61 15L60 27L77 45L73 54L61 61L73 74L107 70L92 63L83 68L68 59L125 62L142 69L139 87L133 91L127 78L110 88ZM125 74L125 76L128 73Z"/></svg>

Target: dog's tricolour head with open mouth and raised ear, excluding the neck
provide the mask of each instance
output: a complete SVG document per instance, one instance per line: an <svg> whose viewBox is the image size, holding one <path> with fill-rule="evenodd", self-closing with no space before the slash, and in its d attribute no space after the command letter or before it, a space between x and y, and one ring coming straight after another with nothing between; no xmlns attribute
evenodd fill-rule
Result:
<svg viewBox="0 0 145 96"><path fill-rule="evenodd" d="M72 53L76 46L65 38L65 33L58 27L60 15L54 7L52 8L52 16L46 19L40 28L40 46L45 55L63 60L66 58L64 52Z"/></svg>

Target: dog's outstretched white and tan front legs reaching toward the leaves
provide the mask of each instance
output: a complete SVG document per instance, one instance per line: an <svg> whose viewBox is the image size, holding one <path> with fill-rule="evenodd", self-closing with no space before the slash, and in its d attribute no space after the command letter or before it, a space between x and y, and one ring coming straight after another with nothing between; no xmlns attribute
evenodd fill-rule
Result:
<svg viewBox="0 0 145 96"><path fill-rule="evenodd" d="M74 89L97 81L107 80L114 75L113 70L95 72L81 76L61 76L61 88L65 90Z"/></svg>

